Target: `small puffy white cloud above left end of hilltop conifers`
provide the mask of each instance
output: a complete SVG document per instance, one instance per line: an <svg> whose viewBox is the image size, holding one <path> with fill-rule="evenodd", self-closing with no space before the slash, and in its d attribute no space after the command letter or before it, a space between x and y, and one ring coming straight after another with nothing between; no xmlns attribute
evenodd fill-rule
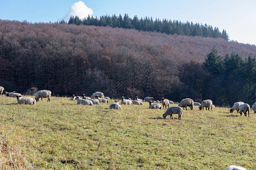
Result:
<svg viewBox="0 0 256 170"><path fill-rule="evenodd" d="M88 15L92 15L93 10L87 7L84 2L79 1L74 3L72 6L69 6L66 15L64 16L64 20L68 21L70 16L79 16L80 19L86 18Z"/></svg>

